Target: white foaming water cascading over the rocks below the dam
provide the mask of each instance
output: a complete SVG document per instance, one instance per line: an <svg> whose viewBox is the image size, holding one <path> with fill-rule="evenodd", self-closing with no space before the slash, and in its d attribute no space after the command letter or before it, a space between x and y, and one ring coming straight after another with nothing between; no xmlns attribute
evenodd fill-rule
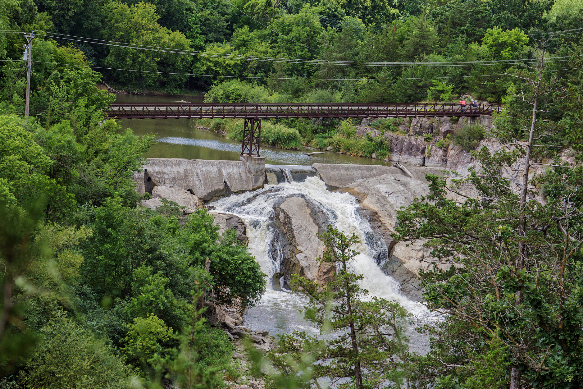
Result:
<svg viewBox="0 0 583 389"><path fill-rule="evenodd" d="M378 267L374 257L375 248L367 246L367 234L373 234L370 225L357 212L359 204L352 195L331 192L318 177L307 177L304 182L290 182L279 185L266 185L264 189L231 195L214 202L213 212L228 212L239 216L247 226L248 248L262 270L269 276L268 289L271 289L272 276L281 266L282 248L276 241L275 230L271 226L275 220L273 206L287 197L303 195L318 204L330 223L345 234L356 234L359 242L354 250L359 251L350 263L350 269L363 274L360 282L369 296L396 300L416 317L427 317L429 311L422 304L407 299L400 292L399 284ZM386 250L386 246L385 246ZM252 328L264 328L270 333L282 334L292 330L314 332L315 329L297 315L297 310L305 306L305 297L268 290L259 304L245 315L245 322ZM287 317L287 319L286 319Z"/></svg>

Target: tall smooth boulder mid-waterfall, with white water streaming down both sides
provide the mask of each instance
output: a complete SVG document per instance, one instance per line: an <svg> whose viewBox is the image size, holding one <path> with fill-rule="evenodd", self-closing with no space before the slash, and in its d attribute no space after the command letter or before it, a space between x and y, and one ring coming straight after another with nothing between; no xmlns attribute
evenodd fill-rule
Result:
<svg viewBox="0 0 583 389"><path fill-rule="evenodd" d="M299 274L324 285L334 274L335 269L329 264L318 264L317 258L324 253L324 244L317 233L321 232L326 220L316 209L310 209L302 197L286 198L276 205L275 225L284 235L282 247L282 272L287 279L291 274ZM282 285L283 286L283 285Z"/></svg>

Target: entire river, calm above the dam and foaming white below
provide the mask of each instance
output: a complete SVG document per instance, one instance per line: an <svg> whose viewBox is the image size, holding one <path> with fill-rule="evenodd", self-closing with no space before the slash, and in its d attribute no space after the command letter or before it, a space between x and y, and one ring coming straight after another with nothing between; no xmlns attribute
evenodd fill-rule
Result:
<svg viewBox="0 0 583 389"><path fill-rule="evenodd" d="M184 97L159 97L159 96L128 96L118 95L118 103L157 103L186 100L191 103L202 103L202 97L189 99ZM215 132L204 131L194 127L194 121L188 119L143 119L122 120L123 128L131 128L134 134L142 136L150 132L156 133L157 143L145 154L146 157L155 158L186 158L186 159L210 159L210 160L238 160L241 153L241 143L231 141L226 136ZM265 157L266 164L277 165L303 165L309 168L312 163L347 163L347 164L381 164L382 160L373 160L361 157L352 157L334 152L306 156L304 153L312 150L301 151L282 150L261 146L261 156ZM293 167L293 166L289 166ZM293 176L288 174L288 178ZM298 177L302 177L298 175ZM289 291L278 292L271 288L271 276L278 271L281 258L273 257L278 250L271 250L277 243L274 241L273 230L270 229L273 220L273 204L278 199L289 196L304 195L320 204L320 208L326 212L334 226L345 233L356 233L360 237L360 243L356 249L360 255L353 261L353 270L364 274L361 283L363 288L370 291L370 296L383 297L396 300L401 303L412 315L420 318L422 322L433 320L429 311L417 302L408 300L399 291L399 285L390 276L385 275L374 261L377 257L373 247L366 244L365 235L369 233L370 226L360 218L356 212L357 202L354 197L346 193L328 191L324 182L318 177L306 177L298 181L279 183L281 191L271 192L273 185L266 185L262 190L254 192L259 194L254 201L248 203L248 193L232 195L212 203L216 207L214 212L234 213L244 220L247 226L248 247L250 252L261 265L262 270L268 274L268 290L257 306L245 313L245 325L255 330L261 328L272 335L289 334L294 330L305 331L311 335L317 335L317 329L303 319L300 313L304 309L307 300L304 297L292 294ZM265 192L265 194L264 194ZM386 247L385 247L386 248ZM388 253L387 253L388 254ZM419 335L412 325L408 330L410 348L412 351L426 353L429 351L429 339Z"/></svg>

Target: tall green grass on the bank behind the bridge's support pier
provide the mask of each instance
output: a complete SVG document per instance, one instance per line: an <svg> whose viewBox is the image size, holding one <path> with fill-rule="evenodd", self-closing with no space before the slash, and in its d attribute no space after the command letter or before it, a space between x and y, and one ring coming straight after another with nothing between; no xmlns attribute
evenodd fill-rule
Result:
<svg viewBox="0 0 583 389"><path fill-rule="evenodd" d="M243 120L241 119L199 119L196 125L209 127L212 131L225 131L227 138L243 141ZM301 136L297 129L267 120L261 122L261 144L287 150L301 148Z"/></svg>

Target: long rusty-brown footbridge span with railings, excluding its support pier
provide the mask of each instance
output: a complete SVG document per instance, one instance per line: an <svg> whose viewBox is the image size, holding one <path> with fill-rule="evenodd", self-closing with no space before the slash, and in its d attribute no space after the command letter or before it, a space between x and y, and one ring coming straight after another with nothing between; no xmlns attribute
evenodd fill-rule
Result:
<svg viewBox="0 0 583 389"><path fill-rule="evenodd" d="M500 113L500 104L380 103L380 104L208 104L114 103L107 116L115 119L170 118L362 118L460 117Z"/></svg>

